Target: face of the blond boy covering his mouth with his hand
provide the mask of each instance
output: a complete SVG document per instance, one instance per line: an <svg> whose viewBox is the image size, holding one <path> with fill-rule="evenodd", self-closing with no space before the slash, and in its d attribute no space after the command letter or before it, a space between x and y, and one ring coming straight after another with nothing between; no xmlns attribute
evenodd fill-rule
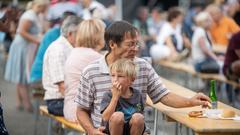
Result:
<svg viewBox="0 0 240 135"><path fill-rule="evenodd" d="M120 73L113 70L111 71L111 80L112 84L114 82L120 83L120 85L122 86L122 91L125 91L128 89L129 86L131 86L132 82L134 81L134 78L129 77L124 73Z"/></svg>

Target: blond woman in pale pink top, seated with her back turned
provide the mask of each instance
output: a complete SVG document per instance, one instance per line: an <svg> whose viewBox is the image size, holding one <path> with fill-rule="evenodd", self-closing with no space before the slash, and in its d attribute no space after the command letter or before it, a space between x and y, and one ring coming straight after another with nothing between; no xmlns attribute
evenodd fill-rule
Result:
<svg viewBox="0 0 240 135"><path fill-rule="evenodd" d="M82 70L91 62L102 57L99 51L104 47L105 24L98 19L80 23L76 47L72 50L65 65L64 117L77 122L77 104L74 102Z"/></svg>

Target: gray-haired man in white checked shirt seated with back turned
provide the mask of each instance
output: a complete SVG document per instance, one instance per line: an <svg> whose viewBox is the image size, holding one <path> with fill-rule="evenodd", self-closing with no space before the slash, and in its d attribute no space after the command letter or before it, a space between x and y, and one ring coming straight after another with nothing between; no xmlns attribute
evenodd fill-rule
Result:
<svg viewBox="0 0 240 135"><path fill-rule="evenodd" d="M80 18L68 16L61 26L61 36L48 48L43 60L44 100L50 114L63 116L64 65L74 47Z"/></svg>

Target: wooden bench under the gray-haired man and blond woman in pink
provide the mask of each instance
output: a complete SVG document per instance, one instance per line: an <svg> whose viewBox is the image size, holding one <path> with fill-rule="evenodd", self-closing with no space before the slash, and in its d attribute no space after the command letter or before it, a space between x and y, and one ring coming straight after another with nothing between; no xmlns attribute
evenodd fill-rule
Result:
<svg viewBox="0 0 240 135"><path fill-rule="evenodd" d="M66 120L64 117L61 117L61 116L54 116L52 114L49 114L48 110L47 110L47 106L40 106L39 110L40 110L41 115L45 115L49 118L48 135L51 134L51 129L50 128L51 128L51 120L52 119L59 122L61 124L62 128L64 128L64 129L71 129L71 130L75 130L79 133L85 133L85 130L83 129L83 127L80 124L70 122L70 121Z"/></svg>

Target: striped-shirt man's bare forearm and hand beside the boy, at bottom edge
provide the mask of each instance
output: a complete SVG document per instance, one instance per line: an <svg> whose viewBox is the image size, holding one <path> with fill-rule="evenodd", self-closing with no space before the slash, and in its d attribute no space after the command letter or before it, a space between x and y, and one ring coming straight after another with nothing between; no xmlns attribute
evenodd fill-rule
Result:
<svg viewBox="0 0 240 135"><path fill-rule="evenodd" d="M93 123L91 121L89 111L82 109L80 107L77 108L77 119L81 126L86 130L88 135L105 135L103 132L104 128L100 127L96 129L93 126Z"/></svg>

